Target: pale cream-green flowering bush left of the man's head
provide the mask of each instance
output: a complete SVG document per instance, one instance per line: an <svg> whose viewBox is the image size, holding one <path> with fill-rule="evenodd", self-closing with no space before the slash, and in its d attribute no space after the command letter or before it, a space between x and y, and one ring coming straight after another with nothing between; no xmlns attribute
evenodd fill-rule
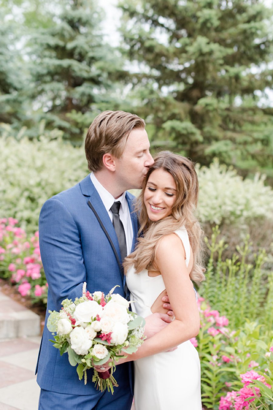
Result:
<svg viewBox="0 0 273 410"><path fill-rule="evenodd" d="M41 137L0 137L0 218L14 217L34 232L43 203L88 173L83 147Z"/></svg>

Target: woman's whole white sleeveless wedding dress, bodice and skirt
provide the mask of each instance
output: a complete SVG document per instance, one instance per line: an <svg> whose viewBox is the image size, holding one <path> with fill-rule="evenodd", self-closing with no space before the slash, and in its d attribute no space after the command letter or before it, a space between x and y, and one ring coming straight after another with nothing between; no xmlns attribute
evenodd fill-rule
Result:
<svg viewBox="0 0 273 410"><path fill-rule="evenodd" d="M187 231L182 227L175 233L183 242L188 266L190 241ZM142 317L150 315L151 306L165 290L162 276L150 277L147 269L135 274L132 266L126 274L126 282L131 301L134 301L131 303L133 312ZM172 352L136 360L134 370L135 410L202 409L200 361L190 340Z"/></svg>

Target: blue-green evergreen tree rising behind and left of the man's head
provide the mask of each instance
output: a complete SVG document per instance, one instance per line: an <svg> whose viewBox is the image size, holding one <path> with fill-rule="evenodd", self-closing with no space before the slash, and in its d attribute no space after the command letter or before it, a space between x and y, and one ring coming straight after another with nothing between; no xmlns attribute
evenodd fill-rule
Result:
<svg viewBox="0 0 273 410"><path fill-rule="evenodd" d="M123 72L119 56L104 41L95 0L56 1L51 17L50 27L35 27L30 44L29 95L38 122L81 141L98 112L117 107L113 90Z"/></svg>

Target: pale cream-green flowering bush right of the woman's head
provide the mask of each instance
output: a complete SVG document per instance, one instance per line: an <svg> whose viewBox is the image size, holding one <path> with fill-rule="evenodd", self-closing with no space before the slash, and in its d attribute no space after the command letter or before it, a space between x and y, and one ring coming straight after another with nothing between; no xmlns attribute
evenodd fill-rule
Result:
<svg viewBox="0 0 273 410"><path fill-rule="evenodd" d="M273 221L273 189L264 185L264 177L243 180L232 167L196 166L199 179L199 217L202 222L247 223L250 219Z"/></svg>

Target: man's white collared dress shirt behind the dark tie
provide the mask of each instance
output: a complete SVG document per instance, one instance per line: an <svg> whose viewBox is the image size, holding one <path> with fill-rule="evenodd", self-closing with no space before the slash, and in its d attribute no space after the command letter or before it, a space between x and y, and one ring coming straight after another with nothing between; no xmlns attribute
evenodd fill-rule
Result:
<svg viewBox="0 0 273 410"><path fill-rule="evenodd" d="M125 198L125 192L119 198L115 199L113 195L111 195L110 192L108 192L107 189L105 189L102 186L102 184L97 180L93 172L90 174L90 179L93 182L94 187L97 189L98 194L102 200L102 203L104 204L106 208L106 211L108 212L109 218L111 219L112 223L113 223L113 214L110 208L114 202L120 201L120 204L121 204L120 212L119 212L120 220L122 221L122 225L123 225L124 232L125 232L127 255L129 255L129 253L131 253L131 248L132 248L132 243L133 243L133 225L132 225L129 206Z"/></svg>

